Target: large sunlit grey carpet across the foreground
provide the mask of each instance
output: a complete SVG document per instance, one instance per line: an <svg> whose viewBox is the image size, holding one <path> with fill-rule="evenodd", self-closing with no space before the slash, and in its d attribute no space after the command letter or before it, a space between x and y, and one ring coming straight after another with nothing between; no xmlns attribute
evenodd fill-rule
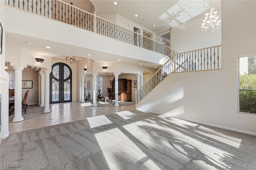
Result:
<svg viewBox="0 0 256 170"><path fill-rule="evenodd" d="M12 133L0 163L20 170L256 170L255 146L256 136L131 109Z"/></svg>

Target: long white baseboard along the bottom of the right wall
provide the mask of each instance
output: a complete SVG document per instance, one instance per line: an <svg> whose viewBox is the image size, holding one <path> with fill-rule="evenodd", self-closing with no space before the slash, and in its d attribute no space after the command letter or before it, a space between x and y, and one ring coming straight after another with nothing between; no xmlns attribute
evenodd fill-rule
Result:
<svg viewBox="0 0 256 170"><path fill-rule="evenodd" d="M138 108L136 108L136 109L139 110L139 111L155 113L155 114L158 114L158 115L163 114L163 113L160 113L160 112L157 112L157 111L152 111L152 110L138 109ZM227 130L230 130L230 131L235 131L235 132L240 132L240 133L245 133L245 134L256 136L256 132L252 132L252 131L246 131L246 130L243 130L243 129L237 129L237 128L234 128L234 127L228 127L228 126L218 125L218 124L204 122L204 121L197 121L197 120L194 120L194 119L187 119L187 118L184 118L184 117L179 117L179 116L174 116L174 115L168 115L168 116L175 117L175 118L178 118L178 119L183 119L183 120L186 120L186 121L191 121L191 122L194 122L194 123L200 123L200 124L203 124L203 125L218 127L218 128L221 128L221 129L227 129Z"/></svg>

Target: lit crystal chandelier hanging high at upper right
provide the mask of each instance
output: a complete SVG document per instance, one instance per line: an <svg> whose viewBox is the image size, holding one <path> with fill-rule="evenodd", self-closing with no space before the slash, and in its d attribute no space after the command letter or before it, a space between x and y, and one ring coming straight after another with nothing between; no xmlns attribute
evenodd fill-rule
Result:
<svg viewBox="0 0 256 170"><path fill-rule="evenodd" d="M214 31L214 29L220 29L221 20L218 20L217 11L214 11L214 9L214 7L210 7L207 10L201 26L202 31L207 32L210 27L212 27L212 31Z"/></svg>

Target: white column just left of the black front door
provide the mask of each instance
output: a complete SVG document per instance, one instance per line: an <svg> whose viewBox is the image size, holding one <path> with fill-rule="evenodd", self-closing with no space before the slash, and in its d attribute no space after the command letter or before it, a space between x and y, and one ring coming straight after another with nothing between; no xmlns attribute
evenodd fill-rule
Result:
<svg viewBox="0 0 256 170"><path fill-rule="evenodd" d="M50 110L50 73L51 71L44 71L45 86L44 86L44 113L51 112Z"/></svg>

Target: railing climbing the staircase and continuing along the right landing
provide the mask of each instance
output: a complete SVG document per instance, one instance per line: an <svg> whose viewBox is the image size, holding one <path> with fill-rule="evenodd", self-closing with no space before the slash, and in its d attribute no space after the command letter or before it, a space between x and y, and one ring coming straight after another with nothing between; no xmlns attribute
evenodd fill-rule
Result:
<svg viewBox="0 0 256 170"><path fill-rule="evenodd" d="M221 68L221 45L173 54L166 63L136 92L136 103L144 99L172 72L212 70Z"/></svg>

